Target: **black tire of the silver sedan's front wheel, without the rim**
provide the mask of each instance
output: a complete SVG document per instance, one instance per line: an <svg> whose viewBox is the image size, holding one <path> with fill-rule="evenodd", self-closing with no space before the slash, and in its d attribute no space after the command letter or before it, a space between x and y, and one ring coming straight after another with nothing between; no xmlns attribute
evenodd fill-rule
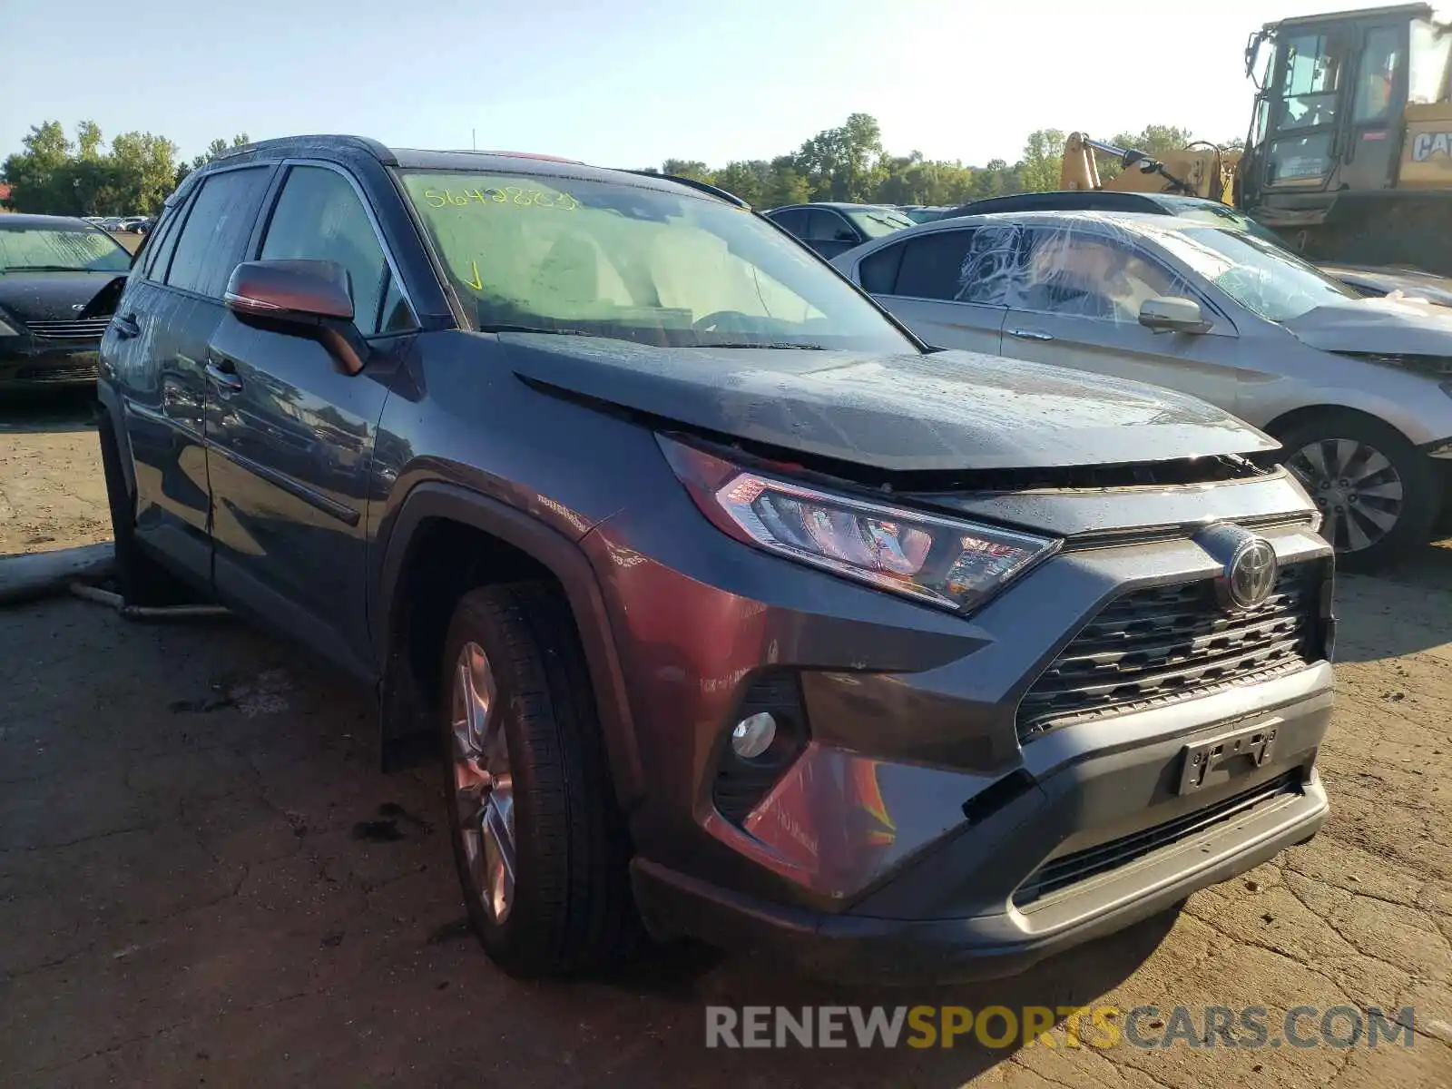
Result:
<svg viewBox="0 0 1452 1089"><path fill-rule="evenodd" d="M1365 547L1350 547L1349 527L1337 529L1331 507L1326 507L1327 520L1323 533L1336 546L1336 562L1343 571L1363 574L1384 571L1424 546L1432 537L1432 527L1442 510L1442 481L1432 459L1419 452L1394 427L1359 412L1330 409L1279 431L1276 439L1285 446L1286 465L1301 472L1313 499L1324 501L1326 495L1318 492L1314 479L1307 479L1304 473L1307 463L1300 462L1297 453L1317 443L1350 440L1371 447L1391 463L1391 469L1400 478L1401 499L1395 521L1384 536ZM1368 499L1361 502L1361 513L1347 504L1342 517L1359 518L1365 527Z"/></svg>

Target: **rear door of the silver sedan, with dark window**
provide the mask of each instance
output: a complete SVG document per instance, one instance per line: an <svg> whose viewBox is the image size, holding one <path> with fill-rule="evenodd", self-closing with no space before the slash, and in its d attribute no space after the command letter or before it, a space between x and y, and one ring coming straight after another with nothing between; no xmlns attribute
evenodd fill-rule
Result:
<svg viewBox="0 0 1452 1089"><path fill-rule="evenodd" d="M928 344L996 356L1006 308L993 270L1000 228L960 227L893 241L857 266L858 283Z"/></svg>

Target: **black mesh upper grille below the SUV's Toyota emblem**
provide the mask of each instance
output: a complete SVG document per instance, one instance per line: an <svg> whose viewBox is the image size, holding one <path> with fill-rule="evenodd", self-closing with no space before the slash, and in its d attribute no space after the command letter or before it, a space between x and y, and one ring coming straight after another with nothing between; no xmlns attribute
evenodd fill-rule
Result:
<svg viewBox="0 0 1452 1089"><path fill-rule="evenodd" d="M1018 735L1208 696L1321 656L1318 562L1281 569L1260 605L1227 614L1211 579L1134 590L1109 603L1018 706Z"/></svg>

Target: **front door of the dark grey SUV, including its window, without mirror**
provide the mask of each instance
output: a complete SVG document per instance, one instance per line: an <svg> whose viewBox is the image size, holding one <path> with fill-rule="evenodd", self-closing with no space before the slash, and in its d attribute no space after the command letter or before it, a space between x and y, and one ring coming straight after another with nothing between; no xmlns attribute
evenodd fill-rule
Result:
<svg viewBox="0 0 1452 1089"><path fill-rule="evenodd" d="M340 170L287 168L258 257L341 264L372 353L362 373L348 375L311 337L232 314L218 324L206 364L216 588L367 672L369 466L401 334L414 319L364 200Z"/></svg>

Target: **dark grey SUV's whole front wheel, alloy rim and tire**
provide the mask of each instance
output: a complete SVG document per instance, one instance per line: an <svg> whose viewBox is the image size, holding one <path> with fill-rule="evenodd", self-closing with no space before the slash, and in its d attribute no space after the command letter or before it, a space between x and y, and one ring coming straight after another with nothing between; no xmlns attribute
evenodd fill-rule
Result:
<svg viewBox="0 0 1452 1089"><path fill-rule="evenodd" d="M523 977L629 957L629 836L568 604L531 582L465 594L440 703L454 861L489 957Z"/></svg>

